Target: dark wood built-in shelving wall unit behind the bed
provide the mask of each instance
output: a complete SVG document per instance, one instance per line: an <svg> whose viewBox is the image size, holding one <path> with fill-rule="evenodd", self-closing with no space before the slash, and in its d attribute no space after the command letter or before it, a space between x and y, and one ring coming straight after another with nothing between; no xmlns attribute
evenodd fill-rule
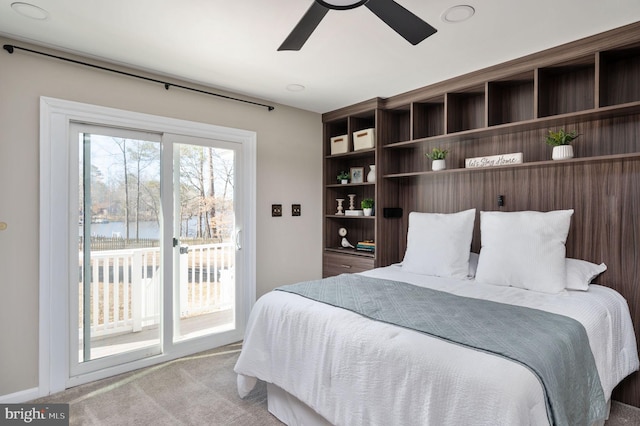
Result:
<svg viewBox="0 0 640 426"><path fill-rule="evenodd" d="M640 342L640 23L415 89L323 114L323 274L402 260L411 211L574 208L567 254L605 262L599 279L629 301ZM375 129L373 149L353 151L353 132ZM551 160L549 130L576 130L575 157ZM349 153L330 139L348 135ZM449 151L432 172L425 153ZM522 164L465 168L465 159L522 152ZM376 179L340 185L336 175L376 165ZM376 215L336 215L336 198L374 198ZM506 200L496 206L496 196ZM385 207L402 217L384 217ZM479 221L474 251L479 250ZM375 240L375 253L340 246ZM640 375L614 392L640 405Z"/></svg>

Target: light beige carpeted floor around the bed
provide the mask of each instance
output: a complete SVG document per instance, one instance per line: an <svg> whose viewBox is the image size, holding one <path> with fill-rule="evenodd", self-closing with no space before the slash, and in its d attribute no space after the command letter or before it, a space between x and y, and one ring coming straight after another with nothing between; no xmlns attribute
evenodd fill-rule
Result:
<svg viewBox="0 0 640 426"><path fill-rule="evenodd" d="M233 366L241 343L77 386L36 403L69 403L71 425L269 426L266 386L245 399ZM640 409L614 403L606 426L640 425Z"/></svg>

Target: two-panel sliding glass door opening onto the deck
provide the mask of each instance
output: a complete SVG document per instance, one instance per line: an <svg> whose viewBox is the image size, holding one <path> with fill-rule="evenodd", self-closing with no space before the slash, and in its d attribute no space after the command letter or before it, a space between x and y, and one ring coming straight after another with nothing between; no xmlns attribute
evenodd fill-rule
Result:
<svg viewBox="0 0 640 426"><path fill-rule="evenodd" d="M235 330L241 145L89 124L71 134L70 376Z"/></svg>

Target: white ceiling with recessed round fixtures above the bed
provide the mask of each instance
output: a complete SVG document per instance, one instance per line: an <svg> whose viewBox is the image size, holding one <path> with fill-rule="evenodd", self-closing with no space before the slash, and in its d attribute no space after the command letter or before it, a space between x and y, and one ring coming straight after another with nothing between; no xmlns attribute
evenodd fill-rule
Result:
<svg viewBox="0 0 640 426"><path fill-rule="evenodd" d="M320 113L640 21L639 0L397 0L438 32L412 46L366 7L332 10L279 52L313 0L24 1L49 17L0 0L0 35ZM443 22L458 4L475 15Z"/></svg>

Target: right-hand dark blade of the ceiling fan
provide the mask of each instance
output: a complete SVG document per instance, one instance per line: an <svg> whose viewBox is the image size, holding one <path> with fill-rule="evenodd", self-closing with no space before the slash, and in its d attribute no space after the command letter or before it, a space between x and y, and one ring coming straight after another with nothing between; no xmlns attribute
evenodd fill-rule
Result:
<svg viewBox="0 0 640 426"><path fill-rule="evenodd" d="M369 0L364 5L413 45L438 31L393 0Z"/></svg>

